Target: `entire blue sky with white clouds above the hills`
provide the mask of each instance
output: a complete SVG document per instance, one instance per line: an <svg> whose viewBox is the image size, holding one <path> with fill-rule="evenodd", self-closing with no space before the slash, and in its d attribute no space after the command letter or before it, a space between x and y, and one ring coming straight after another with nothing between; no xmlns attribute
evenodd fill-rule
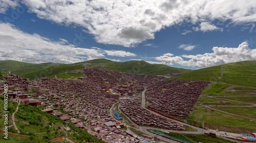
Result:
<svg viewBox="0 0 256 143"><path fill-rule="evenodd" d="M106 58L187 69L254 60L255 6L203 0L3 2L0 60L69 64Z"/></svg>

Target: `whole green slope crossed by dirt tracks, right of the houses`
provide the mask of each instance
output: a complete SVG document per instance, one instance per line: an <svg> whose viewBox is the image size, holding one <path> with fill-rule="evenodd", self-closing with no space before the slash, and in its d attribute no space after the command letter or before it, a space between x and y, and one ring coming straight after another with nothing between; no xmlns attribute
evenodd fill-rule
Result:
<svg viewBox="0 0 256 143"><path fill-rule="evenodd" d="M252 92L243 92L248 90L254 91L254 88L225 83L209 84L199 97L194 111L189 114L187 118L188 123L200 127L205 123L210 128L217 127L234 132L255 130L256 121L253 120L253 118L255 119L255 107L239 107L252 105L249 103L256 102ZM219 99L211 96L218 96ZM220 103L220 101L224 103ZM210 107L224 112L218 110L211 111L209 108L204 107L205 105L214 105ZM225 112L233 113L234 115Z"/></svg>

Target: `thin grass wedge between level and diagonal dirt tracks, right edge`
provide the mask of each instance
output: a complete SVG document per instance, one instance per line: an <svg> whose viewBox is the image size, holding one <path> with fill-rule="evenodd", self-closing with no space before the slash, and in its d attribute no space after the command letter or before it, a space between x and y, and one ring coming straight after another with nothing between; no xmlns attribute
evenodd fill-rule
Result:
<svg viewBox="0 0 256 143"><path fill-rule="evenodd" d="M231 112L231 113L238 113L240 115L246 115L256 119L256 107L214 107L218 110Z"/></svg>

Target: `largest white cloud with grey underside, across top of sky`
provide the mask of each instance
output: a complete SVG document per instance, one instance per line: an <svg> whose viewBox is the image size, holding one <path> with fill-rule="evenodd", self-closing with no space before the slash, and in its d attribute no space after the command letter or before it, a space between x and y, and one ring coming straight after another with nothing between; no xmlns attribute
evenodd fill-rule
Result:
<svg viewBox="0 0 256 143"><path fill-rule="evenodd" d="M0 12L16 6L16 1L1 0ZM13 3L12 3L13 2ZM231 24L256 22L256 1L237 0L24 0L29 12L59 24L75 24L104 44L136 46L165 27L182 22L201 23L195 30L222 30L211 21ZM188 31L183 33L187 34Z"/></svg>

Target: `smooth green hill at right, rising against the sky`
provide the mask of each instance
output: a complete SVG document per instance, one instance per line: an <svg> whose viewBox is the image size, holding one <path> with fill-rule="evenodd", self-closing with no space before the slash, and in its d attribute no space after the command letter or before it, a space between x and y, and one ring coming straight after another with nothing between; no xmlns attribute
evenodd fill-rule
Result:
<svg viewBox="0 0 256 143"><path fill-rule="evenodd" d="M224 76L222 78L221 68L223 68L224 71ZM256 74L256 61L236 62L194 70L176 78L185 80L226 82L256 87L256 75L252 74Z"/></svg>

